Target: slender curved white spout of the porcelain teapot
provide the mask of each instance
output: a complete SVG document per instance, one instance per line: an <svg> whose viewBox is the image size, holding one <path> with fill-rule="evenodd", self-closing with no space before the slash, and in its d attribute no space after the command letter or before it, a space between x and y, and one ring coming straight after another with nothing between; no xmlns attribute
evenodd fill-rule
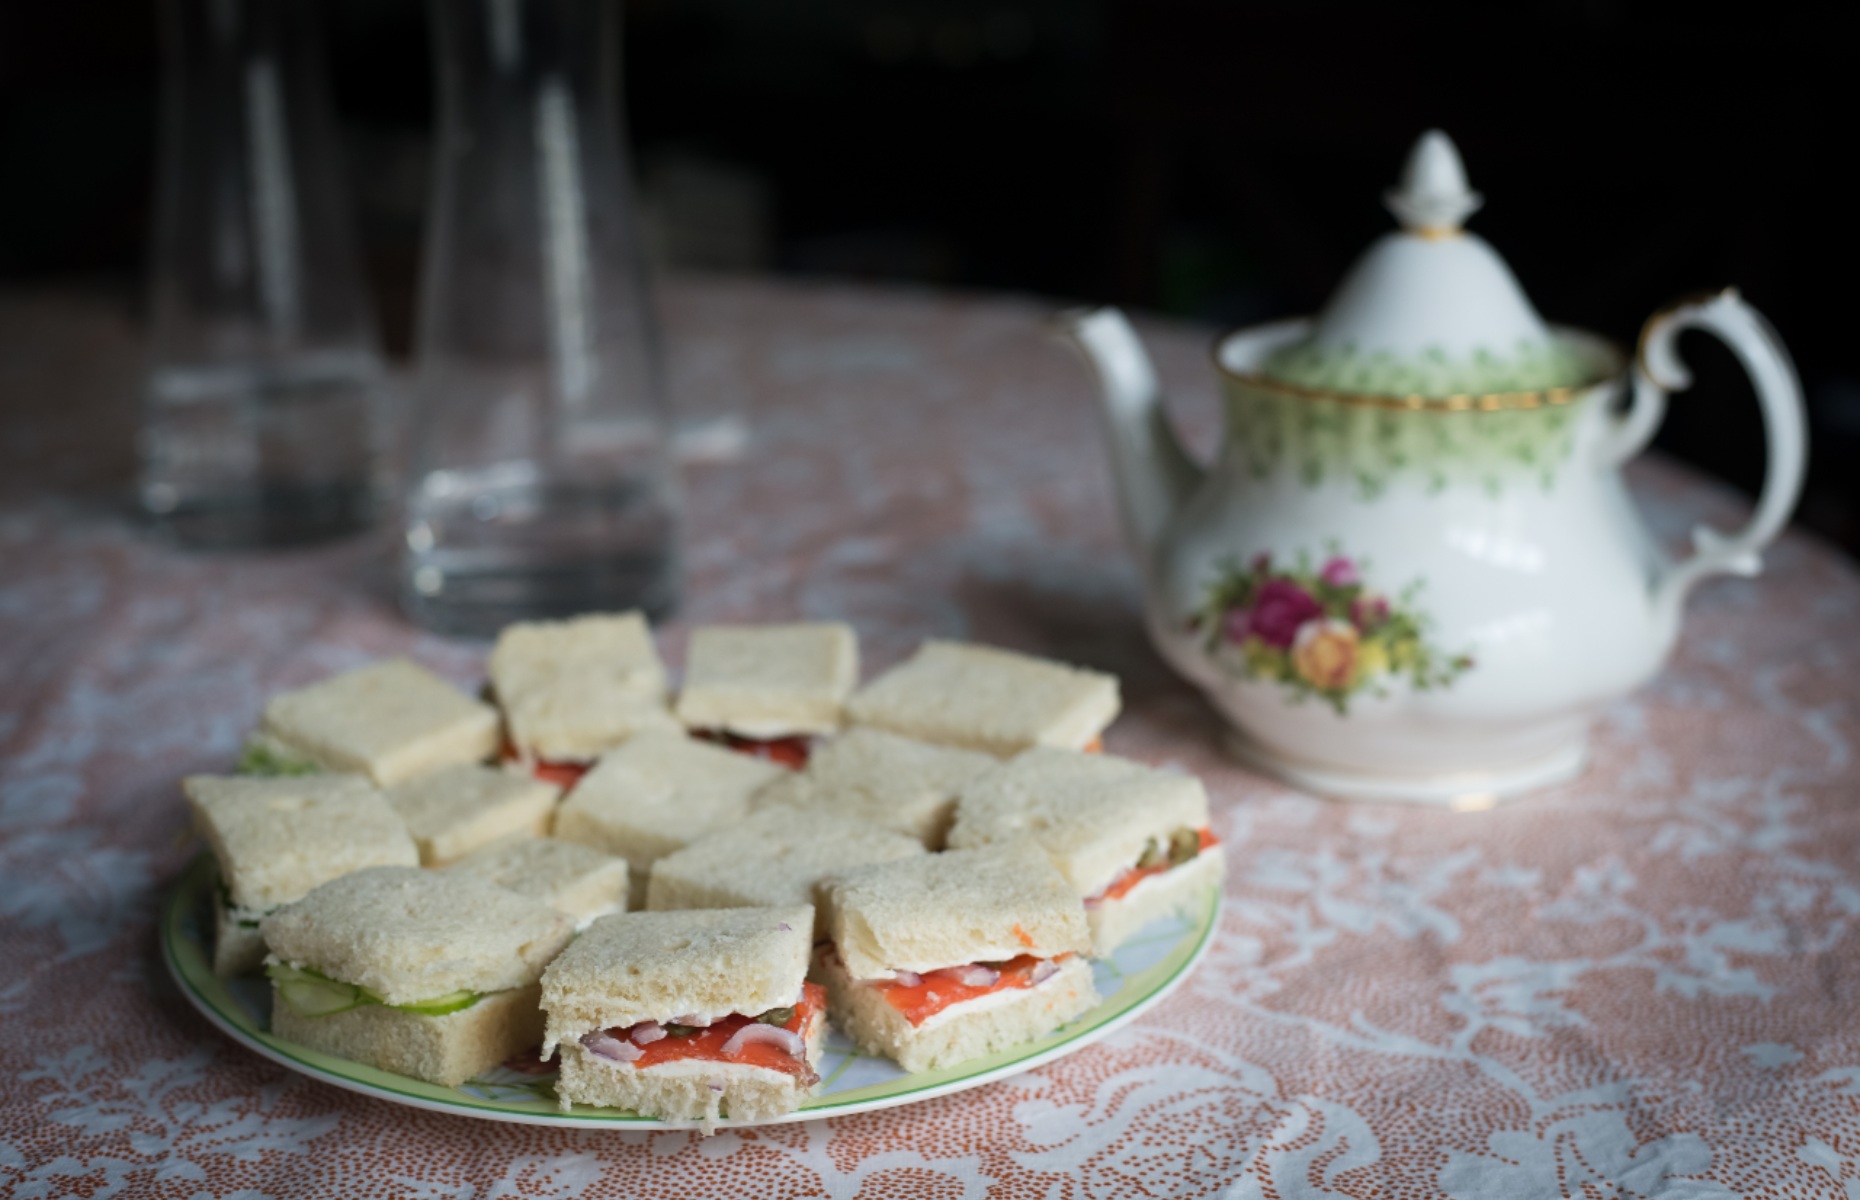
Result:
<svg viewBox="0 0 1860 1200"><path fill-rule="evenodd" d="M1203 469L1176 437L1157 372L1123 313L1071 309L1060 313L1056 324L1097 378L1123 532L1140 554L1148 554L1202 486Z"/></svg>

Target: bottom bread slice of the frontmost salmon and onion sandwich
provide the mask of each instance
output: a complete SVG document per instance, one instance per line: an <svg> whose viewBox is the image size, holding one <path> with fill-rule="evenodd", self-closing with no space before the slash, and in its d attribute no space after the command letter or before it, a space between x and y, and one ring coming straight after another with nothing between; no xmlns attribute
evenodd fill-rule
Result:
<svg viewBox="0 0 1860 1200"><path fill-rule="evenodd" d="M822 1016L807 1029L809 1068L818 1068L824 1042ZM720 1118L768 1120L792 1113L811 1090L813 1079L735 1062L660 1062L642 1070L591 1055L580 1042L562 1044L562 1075L556 1079L564 1111L571 1103L590 1103L660 1120L698 1122L705 1133Z"/></svg>

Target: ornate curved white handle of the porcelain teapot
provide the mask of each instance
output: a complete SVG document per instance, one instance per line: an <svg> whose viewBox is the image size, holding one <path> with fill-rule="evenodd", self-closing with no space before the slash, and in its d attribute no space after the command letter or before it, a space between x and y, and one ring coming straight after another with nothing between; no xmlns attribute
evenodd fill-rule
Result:
<svg viewBox="0 0 1860 1200"><path fill-rule="evenodd" d="M1763 409L1763 437L1769 456L1763 471L1763 493L1758 497L1750 523L1730 536L1709 525L1694 527L1693 554L1665 567L1654 582L1654 607L1670 618L1678 618L1685 593L1704 577L1717 573L1756 575L1763 569L1760 551L1787 523L1802 491L1808 458L1802 385L1797 380L1795 363L1789 361L1789 352L1784 350L1776 331L1771 329L1761 313L1737 296L1737 288L1687 298L1648 318L1641 329L1641 352L1635 357L1635 402L1620 433L1646 441L1665 411L1667 393L1693 385L1693 376L1674 348L1681 329L1704 329L1715 335L1743 363ZM1644 430L1639 428L1642 422L1646 422Z"/></svg>

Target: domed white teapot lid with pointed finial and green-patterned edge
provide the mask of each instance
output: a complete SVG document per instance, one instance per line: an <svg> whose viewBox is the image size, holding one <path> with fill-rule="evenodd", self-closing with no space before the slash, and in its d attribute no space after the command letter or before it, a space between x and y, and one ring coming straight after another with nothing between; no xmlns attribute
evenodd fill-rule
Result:
<svg viewBox="0 0 1860 1200"><path fill-rule="evenodd" d="M1391 396L1525 393L1594 378L1499 253L1462 229L1484 197L1468 188L1447 134L1421 134L1384 203L1401 231L1356 260L1311 333L1269 355L1263 376Z"/></svg>

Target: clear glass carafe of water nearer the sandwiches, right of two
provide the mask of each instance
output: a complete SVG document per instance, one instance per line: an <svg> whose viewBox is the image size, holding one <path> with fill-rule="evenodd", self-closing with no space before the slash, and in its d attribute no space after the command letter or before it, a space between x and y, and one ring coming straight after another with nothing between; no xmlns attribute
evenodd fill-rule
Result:
<svg viewBox="0 0 1860 1200"><path fill-rule="evenodd" d="M402 603L430 629L677 597L677 480L604 0L435 0L441 128Z"/></svg>

